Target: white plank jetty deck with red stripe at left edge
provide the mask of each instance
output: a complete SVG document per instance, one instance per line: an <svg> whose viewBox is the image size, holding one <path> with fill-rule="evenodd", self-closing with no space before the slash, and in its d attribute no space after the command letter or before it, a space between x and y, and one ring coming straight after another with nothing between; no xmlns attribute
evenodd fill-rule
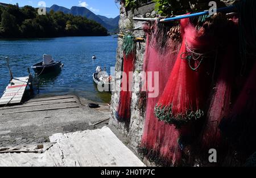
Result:
<svg viewBox="0 0 256 178"><path fill-rule="evenodd" d="M20 103L27 88L29 77L20 77L11 80L0 99L0 105Z"/></svg>

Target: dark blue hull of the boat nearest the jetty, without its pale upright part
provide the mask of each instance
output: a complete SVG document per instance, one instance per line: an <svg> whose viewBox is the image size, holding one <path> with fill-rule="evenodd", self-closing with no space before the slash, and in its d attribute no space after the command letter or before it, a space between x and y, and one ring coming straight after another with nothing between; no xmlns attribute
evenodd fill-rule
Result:
<svg viewBox="0 0 256 178"><path fill-rule="evenodd" d="M62 66L63 65L61 64L61 61L52 62L51 65L43 65L42 61L33 65L32 69L35 71L36 74L42 75L47 73L57 73L61 70Z"/></svg>

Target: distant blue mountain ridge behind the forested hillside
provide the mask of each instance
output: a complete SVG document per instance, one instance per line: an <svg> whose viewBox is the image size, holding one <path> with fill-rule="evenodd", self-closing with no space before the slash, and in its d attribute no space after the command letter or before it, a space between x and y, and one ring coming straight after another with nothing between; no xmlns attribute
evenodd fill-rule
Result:
<svg viewBox="0 0 256 178"><path fill-rule="evenodd" d="M118 22L119 22L119 16L116 18L106 18L105 16L96 15L89 9L86 9L85 7L77 7L73 6L71 9L67 9L65 7L52 5L51 7L46 9L47 12L53 10L53 11L61 11L64 12L64 14L72 14L76 16L85 16L86 18L90 20L94 20L98 23L100 23L102 26L104 26L108 31L114 32L118 29Z"/></svg>

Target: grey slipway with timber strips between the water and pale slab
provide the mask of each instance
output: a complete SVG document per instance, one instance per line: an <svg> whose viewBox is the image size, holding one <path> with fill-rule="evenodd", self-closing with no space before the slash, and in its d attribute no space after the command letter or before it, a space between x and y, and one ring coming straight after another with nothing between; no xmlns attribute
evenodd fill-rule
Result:
<svg viewBox="0 0 256 178"><path fill-rule="evenodd" d="M97 129L108 123L109 107L91 109L74 95L47 96L0 108L0 147L49 142L55 133Z"/></svg>

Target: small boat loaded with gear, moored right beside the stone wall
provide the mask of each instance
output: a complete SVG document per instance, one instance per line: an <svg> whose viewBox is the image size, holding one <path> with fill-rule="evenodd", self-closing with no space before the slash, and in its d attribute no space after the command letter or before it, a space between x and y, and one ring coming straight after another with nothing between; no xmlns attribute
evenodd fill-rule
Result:
<svg viewBox="0 0 256 178"><path fill-rule="evenodd" d="M97 67L96 73L94 73L92 77L97 86L104 88L104 91L112 92L114 87L114 78L106 73L106 71L102 71L101 67Z"/></svg>

